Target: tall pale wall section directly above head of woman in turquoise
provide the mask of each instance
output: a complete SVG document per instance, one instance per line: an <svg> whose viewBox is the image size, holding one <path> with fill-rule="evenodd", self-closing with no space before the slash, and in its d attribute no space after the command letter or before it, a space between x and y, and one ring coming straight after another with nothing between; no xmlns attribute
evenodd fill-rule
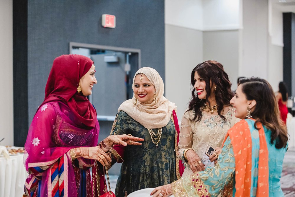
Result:
<svg viewBox="0 0 295 197"><path fill-rule="evenodd" d="M243 1L243 27L239 73L268 80L268 0Z"/></svg>

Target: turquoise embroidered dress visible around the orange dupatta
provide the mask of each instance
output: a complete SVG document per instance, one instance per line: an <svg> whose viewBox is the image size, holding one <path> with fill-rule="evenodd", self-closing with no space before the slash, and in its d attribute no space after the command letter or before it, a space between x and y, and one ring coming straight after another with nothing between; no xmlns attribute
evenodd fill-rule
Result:
<svg viewBox="0 0 295 197"><path fill-rule="evenodd" d="M258 181L258 161L259 161L259 133L255 129L255 121L245 119L247 121L252 139L252 167L251 167L251 197L256 196L257 181ZM275 143L271 144L271 131L263 125L268 147L268 169L269 169L269 197L283 197L283 191L280 185L280 178L283 169L283 159L287 151L286 148L276 149ZM239 131L237 131L238 133ZM208 193L213 196L223 190L224 186L233 190L235 196L235 157L230 138L228 137L222 147L222 152L219 154L217 165L214 167L208 166L204 171L196 172L198 177L203 181ZM195 175L194 173L193 175ZM198 196L196 191L191 189L194 183L191 177L183 177L173 183L174 191L178 191L186 196ZM181 192L179 192L181 191ZM178 195L175 195L176 197Z"/></svg>

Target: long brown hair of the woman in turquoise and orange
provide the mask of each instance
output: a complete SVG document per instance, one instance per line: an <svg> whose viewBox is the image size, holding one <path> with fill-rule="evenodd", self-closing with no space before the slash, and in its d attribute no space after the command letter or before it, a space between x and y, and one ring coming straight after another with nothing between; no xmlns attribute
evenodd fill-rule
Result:
<svg viewBox="0 0 295 197"><path fill-rule="evenodd" d="M258 77L241 79L240 85L247 100L256 101L255 109L251 112L252 117L256 119L255 128L259 129L257 123L262 123L271 130L271 144L275 143L277 149L286 147L287 129L280 118L278 103L271 85Z"/></svg>

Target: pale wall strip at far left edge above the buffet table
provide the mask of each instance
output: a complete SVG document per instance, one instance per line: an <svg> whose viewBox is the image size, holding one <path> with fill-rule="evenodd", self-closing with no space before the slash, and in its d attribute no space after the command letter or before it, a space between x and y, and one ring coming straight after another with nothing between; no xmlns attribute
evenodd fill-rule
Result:
<svg viewBox="0 0 295 197"><path fill-rule="evenodd" d="M12 1L0 0L0 140L13 145Z"/></svg>

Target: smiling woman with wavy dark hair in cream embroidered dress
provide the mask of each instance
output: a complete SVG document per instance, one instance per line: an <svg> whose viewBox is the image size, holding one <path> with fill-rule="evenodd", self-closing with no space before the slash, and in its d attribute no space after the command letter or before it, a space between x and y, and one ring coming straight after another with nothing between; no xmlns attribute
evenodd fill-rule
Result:
<svg viewBox="0 0 295 197"><path fill-rule="evenodd" d="M233 93L222 64L205 61L191 72L192 98L181 120L178 156L185 170L182 176L214 166L209 146L220 149L227 130L233 125ZM210 151L209 151L210 152Z"/></svg>

